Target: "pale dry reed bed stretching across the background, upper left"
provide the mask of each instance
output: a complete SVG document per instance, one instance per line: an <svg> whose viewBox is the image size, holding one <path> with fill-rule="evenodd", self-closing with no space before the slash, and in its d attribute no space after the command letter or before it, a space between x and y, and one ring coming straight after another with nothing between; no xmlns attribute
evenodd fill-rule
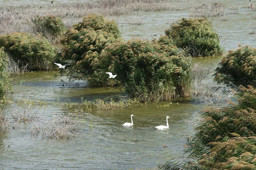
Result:
<svg viewBox="0 0 256 170"><path fill-rule="evenodd" d="M165 0L104 0L91 3L60 3L47 5L19 5L0 7L0 35L12 32L34 33L31 19L35 16L58 16L65 26L72 26L88 14L100 14L105 17L131 15L133 11L181 10L184 2L166 2Z"/></svg>

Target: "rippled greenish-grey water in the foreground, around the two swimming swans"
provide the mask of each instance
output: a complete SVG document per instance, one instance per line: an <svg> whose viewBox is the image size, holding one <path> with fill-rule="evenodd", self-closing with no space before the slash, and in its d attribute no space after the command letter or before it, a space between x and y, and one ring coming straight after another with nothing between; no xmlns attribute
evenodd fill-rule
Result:
<svg viewBox="0 0 256 170"><path fill-rule="evenodd" d="M37 74L38 76L35 76ZM61 113L54 102L79 102L84 99L105 98L116 95L104 88L88 88L86 83L74 82L60 85L61 78L52 79L53 72L38 72L14 77L13 81L24 80L14 86L10 100L41 100L47 102L44 110L35 110L44 119ZM40 78L38 78L40 77ZM0 167L9 170L21 169L135 169L156 167L171 158L184 160L184 144L194 133L193 127L199 118L199 103L189 99L160 102L119 111L81 113L82 129L71 140L47 140L30 135L31 123L15 125L15 130L0 135ZM7 111L12 111L12 107ZM38 111L38 113L37 113ZM130 122L134 114L134 126L122 127ZM168 130L156 130L154 126L166 125ZM163 148L163 144L167 148Z"/></svg>

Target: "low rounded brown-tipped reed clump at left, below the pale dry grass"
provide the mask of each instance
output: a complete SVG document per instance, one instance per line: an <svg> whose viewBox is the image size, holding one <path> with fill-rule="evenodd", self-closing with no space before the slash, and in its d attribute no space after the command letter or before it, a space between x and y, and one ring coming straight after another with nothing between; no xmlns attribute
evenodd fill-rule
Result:
<svg viewBox="0 0 256 170"><path fill-rule="evenodd" d="M52 69L52 60L56 56L55 48L47 40L27 33L0 36L0 47L4 47L19 68L26 66L29 71Z"/></svg>

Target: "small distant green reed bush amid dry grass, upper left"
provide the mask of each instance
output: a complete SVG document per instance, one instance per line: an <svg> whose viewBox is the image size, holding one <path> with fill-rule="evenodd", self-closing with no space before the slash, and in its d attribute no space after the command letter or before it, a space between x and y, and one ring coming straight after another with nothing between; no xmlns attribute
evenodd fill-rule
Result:
<svg viewBox="0 0 256 170"><path fill-rule="evenodd" d="M36 16L31 18L31 22L33 32L43 35L52 43L59 42L61 35L66 31L61 18L54 15Z"/></svg>

